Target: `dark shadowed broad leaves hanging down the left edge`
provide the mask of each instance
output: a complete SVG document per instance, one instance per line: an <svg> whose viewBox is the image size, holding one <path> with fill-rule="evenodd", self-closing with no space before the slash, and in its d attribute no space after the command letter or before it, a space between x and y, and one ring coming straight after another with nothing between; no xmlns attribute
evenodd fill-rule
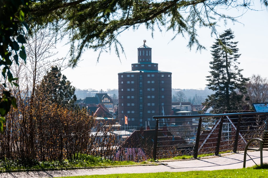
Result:
<svg viewBox="0 0 268 178"><path fill-rule="evenodd" d="M17 86L10 66L13 61L18 65L19 57L26 62L26 53L23 44L24 30L28 29L24 19L29 14L30 1L25 0L1 0L0 4L0 66L4 78L3 87L0 93L0 130L3 130L5 115L9 112L10 106L16 107L16 99L10 95L10 91L5 91L7 82Z"/></svg>

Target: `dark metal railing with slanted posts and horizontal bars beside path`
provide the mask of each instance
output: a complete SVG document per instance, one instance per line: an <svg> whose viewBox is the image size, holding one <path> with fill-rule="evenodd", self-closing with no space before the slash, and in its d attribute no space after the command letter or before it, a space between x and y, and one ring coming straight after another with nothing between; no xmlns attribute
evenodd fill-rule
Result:
<svg viewBox="0 0 268 178"><path fill-rule="evenodd" d="M244 150L252 138L267 130L268 112L154 116L154 160ZM258 147L258 142L253 147Z"/></svg>

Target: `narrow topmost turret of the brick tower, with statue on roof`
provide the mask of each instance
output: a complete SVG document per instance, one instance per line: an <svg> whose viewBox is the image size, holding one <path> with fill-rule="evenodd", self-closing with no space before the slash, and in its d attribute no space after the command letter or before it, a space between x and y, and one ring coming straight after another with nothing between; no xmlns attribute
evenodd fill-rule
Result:
<svg viewBox="0 0 268 178"><path fill-rule="evenodd" d="M138 63L152 62L152 48L145 45L146 40L143 40L143 45L138 48Z"/></svg>

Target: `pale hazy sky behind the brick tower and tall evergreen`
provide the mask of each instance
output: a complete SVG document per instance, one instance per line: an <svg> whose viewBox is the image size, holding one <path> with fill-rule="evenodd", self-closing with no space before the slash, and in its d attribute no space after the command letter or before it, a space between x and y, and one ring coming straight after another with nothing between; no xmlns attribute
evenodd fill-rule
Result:
<svg viewBox="0 0 268 178"><path fill-rule="evenodd" d="M258 2L259 3L259 2ZM260 8L257 8L260 9ZM240 12L241 13L241 12ZM236 36L234 41L239 41L238 48L241 57L239 68L244 69L244 77L252 74L260 74L268 77L267 51L268 51L268 13L267 10L248 11L242 17L237 18L241 23L228 22L226 26L218 27L218 32L231 28ZM221 23L223 24L223 23ZM211 37L210 29L202 28L198 32L199 41L207 50L201 53L195 48L191 51L187 48L188 38L178 36L170 41L173 32L155 31L151 38L151 31L147 31L141 25L137 31L125 31L119 36L126 58L121 55L121 62L114 50L111 53L103 53L100 61L96 63L98 52L86 50L81 62L74 69L68 68L62 71L76 88L107 90L118 88L119 72L131 71L131 64L137 62L137 48L146 45L152 48L152 62L158 63L160 71L172 72L172 88L204 88L209 75L209 62L211 61L210 46L215 41L215 35ZM64 42L57 45L59 53L57 57L64 57L69 46L63 46Z"/></svg>

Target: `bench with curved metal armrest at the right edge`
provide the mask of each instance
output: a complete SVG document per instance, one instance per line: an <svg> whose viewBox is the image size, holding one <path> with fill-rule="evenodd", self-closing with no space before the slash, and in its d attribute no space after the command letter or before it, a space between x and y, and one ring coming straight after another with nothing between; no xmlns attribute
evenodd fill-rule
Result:
<svg viewBox="0 0 268 178"><path fill-rule="evenodd" d="M250 144L254 141L259 141L260 142L260 147L259 149L256 148L249 148ZM262 158L262 150L268 150L268 131L264 131L262 135L262 139L260 138L254 138L250 140L245 147L245 152L244 152L244 163L243 163L243 168L246 167L246 157L247 157L247 150L254 150L254 151L260 151L260 166L263 166L263 158ZM250 158L252 159L252 158Z"/></svg>

